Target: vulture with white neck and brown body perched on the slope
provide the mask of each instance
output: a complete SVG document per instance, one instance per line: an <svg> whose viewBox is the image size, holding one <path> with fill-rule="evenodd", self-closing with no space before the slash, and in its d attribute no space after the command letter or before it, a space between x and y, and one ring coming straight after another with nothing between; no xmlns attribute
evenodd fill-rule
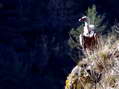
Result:
<svg viewBox="0 0 119 89"><path fill-rule="evenodd" d="M95 25L90 24L90 18L83 16L79 22L84 22L83 33L79 36L80 45L84 50L94 50L97 45L98 35L95 33Z"/></svg>

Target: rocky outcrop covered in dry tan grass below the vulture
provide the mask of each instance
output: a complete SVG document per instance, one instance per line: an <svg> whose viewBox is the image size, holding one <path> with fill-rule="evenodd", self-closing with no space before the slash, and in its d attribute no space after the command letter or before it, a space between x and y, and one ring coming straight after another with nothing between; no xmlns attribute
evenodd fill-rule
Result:
<svg viewBox="0 0 119 89"><path fill-rule="evenodd" d="M73 68L65 89L119 89L119 40L102 43Z"/></svg>

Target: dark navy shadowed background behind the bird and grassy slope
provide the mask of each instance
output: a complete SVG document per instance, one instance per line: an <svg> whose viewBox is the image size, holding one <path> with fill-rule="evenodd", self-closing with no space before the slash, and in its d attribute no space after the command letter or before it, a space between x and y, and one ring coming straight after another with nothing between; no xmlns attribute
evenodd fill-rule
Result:
<svg viewBox="0 0 119 89"><path fill-rule="evenodd" d="M0 89L63 89L68 33L92 4L108 27L119 20L118 0L0 0Z"/></svg>

